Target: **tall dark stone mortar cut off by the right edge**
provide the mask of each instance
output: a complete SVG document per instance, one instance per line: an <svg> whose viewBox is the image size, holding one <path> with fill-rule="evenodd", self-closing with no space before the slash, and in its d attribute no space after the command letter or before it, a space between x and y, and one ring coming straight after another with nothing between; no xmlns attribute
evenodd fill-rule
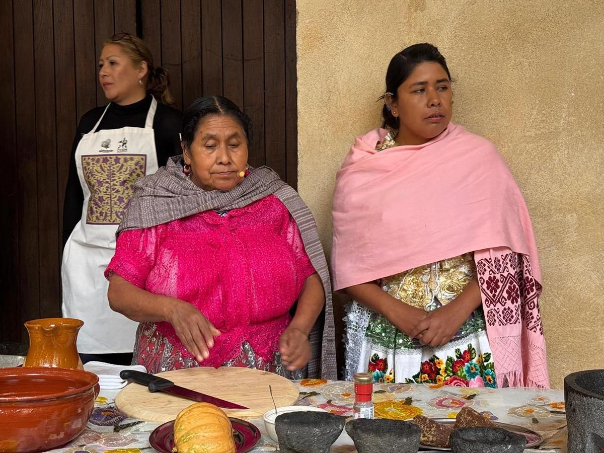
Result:
<svg viewBox="0 0 604 453"><path fill-rule="evenodd" d="M568 453L604 451L604 370L586 370L564 378Z"/></svg>

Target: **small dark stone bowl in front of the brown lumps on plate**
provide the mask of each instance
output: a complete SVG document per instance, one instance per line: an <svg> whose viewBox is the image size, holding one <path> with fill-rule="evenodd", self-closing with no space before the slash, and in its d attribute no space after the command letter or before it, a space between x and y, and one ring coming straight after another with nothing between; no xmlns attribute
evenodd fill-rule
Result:
<svg viewBox="0 0 604 453"><path fill-rule="evenodd" d="M522 453L526 443L524 435L486 426L454 429L449 437L453 453Z"/></svg>

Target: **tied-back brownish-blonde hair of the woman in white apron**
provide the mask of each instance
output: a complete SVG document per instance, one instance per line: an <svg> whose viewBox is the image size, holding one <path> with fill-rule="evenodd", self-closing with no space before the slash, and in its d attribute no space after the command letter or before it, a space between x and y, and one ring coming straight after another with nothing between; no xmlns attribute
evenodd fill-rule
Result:
<svg viewBox="0 0 604 453"><path fill-rule="evenodd" d="M132 60L135 66L147 62L147 74L143 78L145 89L163 104L173 105L174 98L170 94L168 86L170 77L168 70L153 66L153 55L146 43L140 37L132 36L130 33L118 33L103 42L103 47L108 44L117 44L121 50Z"/></svg>

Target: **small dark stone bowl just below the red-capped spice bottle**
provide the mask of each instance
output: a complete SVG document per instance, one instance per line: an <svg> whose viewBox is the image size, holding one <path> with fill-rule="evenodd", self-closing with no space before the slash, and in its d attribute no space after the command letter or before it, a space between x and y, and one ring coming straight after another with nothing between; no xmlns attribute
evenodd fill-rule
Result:
<svg viewBox="0 0 604 453"><path fill-rule="evenodd" d="M346 432L359 453L416 453L422 434L413 423L388 419L352 420Z"/></svg>

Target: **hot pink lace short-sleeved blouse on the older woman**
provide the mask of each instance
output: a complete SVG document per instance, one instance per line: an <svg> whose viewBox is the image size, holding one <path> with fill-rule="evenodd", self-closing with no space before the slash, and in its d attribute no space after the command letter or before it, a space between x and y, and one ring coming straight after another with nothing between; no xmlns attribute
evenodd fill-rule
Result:
<svg viewBox="0 0 604 453"><path fill-rule="evenodd" d="M271 195L222 216L205 211L123 231L105 276L113 272L201 310L221 332L202 365L219 367L239 354L244 341L272 360L291 320L289 309L315 269L294 219ZM183 358L192 357L171 324L157 328Z"/></svg>

